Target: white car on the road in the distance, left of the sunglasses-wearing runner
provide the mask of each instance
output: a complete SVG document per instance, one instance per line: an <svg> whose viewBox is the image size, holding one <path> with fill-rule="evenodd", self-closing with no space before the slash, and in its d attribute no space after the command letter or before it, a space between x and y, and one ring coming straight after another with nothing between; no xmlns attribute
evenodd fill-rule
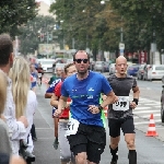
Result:
<svg viewBox="0 0 164 164"><path fill-rule="evenodd" d="M52 72L55 59L38 59L37 62L42 65L44 72Z"/></svg>

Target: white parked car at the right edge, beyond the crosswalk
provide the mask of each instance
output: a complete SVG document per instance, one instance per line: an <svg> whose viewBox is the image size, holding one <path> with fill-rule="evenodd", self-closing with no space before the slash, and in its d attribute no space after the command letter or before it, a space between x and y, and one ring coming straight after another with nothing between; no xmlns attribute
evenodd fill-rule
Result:
<svg viewBox="0 0 164 164"><path fill-rule="evenodd" d="M148 80L162 80L164 75L164 65L152 65L148 71Z"/></svg>

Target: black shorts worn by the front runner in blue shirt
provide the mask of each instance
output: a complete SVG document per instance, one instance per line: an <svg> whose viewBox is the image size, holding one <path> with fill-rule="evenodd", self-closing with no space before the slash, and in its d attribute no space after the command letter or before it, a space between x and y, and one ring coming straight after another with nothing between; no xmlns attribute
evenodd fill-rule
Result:
<svg viewBox="0 0 164 164"><path fill-rule="evenodd" d="M74 156L86 152L90 162L99 163L106 145L105 128L80 124L78 132L67 138Z"/></svg>

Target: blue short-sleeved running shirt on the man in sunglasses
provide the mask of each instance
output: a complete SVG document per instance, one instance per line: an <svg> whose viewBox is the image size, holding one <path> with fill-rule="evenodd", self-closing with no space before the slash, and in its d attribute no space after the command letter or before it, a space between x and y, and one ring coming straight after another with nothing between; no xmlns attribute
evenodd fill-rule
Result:
<svg viewBox="0 0 164 164"><path fill-rule="evenodd" d="M85 125L104 127L102 114L89 112L89 105L99 105L101 93L108 94L112 87L107 79L97 72L89 72L84 80L78 80L77 74L67 78L61 86L61 95L71 97L71 117Z"/></svg>

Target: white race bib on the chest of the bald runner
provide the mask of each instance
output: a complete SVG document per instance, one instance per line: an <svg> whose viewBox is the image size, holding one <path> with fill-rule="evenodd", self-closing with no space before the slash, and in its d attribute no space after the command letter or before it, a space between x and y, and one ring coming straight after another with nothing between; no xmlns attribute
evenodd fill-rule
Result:
<svg viewBox="0 0 164 164"><path fill-rule="evenodd" d="M114 110L128 110L129 109L129 96L118 96L118 102L113 104Z"/></svg>

